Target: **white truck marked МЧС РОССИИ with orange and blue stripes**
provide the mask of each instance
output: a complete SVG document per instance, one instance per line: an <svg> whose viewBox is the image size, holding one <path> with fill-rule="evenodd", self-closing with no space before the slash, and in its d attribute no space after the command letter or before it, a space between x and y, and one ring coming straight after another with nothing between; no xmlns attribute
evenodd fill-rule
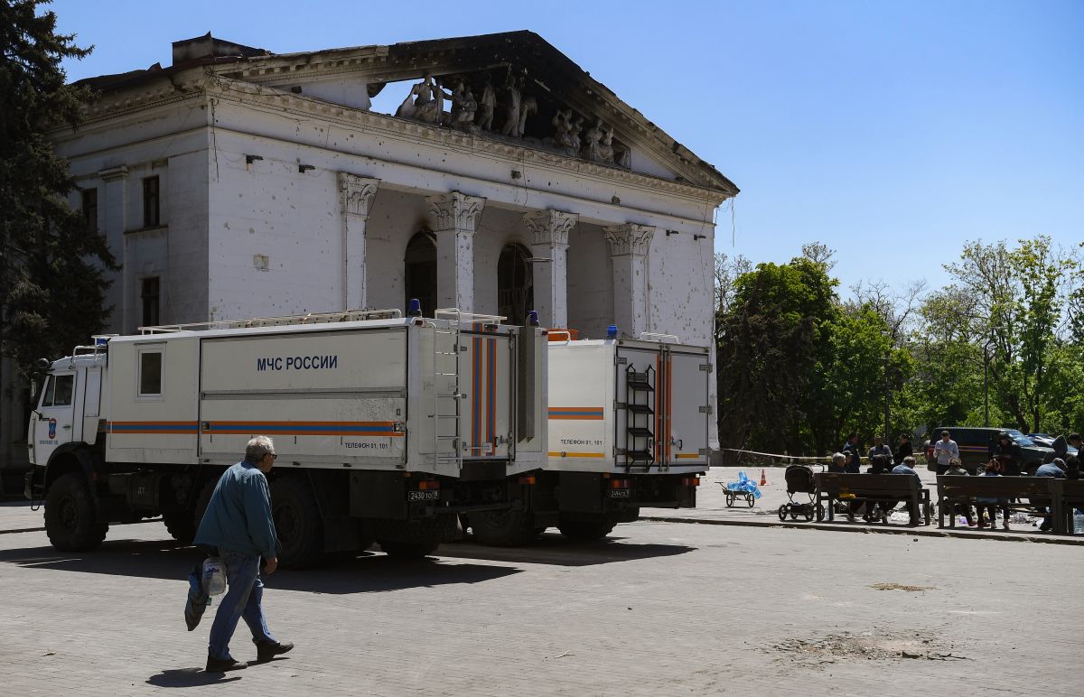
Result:
<svg viewBox="0 0 1084 697"><path fill-rule="evenodd" d="M267 435L283 564L418 556L459 514L525 498L547 457L545 336L399 310L144 327L53 361L30 423L28 498L62 550L162 515L190 542L218 477Z"/></svg>

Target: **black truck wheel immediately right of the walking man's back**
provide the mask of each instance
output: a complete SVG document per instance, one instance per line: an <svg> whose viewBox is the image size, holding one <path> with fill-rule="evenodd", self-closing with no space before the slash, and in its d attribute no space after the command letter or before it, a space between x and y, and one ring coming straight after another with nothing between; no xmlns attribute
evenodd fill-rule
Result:
<svg viewBox="0 0 1084 697"><path fill-rule="evenodd" d="M275 479L271 485L271 516L282 543L279 563L284 568L309 566L321 557L324 526L307 481L297 477Z"/></svg>

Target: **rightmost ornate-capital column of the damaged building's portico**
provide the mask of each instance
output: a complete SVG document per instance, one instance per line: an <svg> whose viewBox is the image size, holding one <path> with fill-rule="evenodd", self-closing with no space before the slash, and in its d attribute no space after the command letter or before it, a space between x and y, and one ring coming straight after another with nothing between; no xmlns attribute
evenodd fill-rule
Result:
<svg viewBox="0 0 1084 697"><path fill-rule="evenodd" d="M604 232L614 260L614 323L635 338L647 331L647 253L655 228L627 223Z"/></svg>

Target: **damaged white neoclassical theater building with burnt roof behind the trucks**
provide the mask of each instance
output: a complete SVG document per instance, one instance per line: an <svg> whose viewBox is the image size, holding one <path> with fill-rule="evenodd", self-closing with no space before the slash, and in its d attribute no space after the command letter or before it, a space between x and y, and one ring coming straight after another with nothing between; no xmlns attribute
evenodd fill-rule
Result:
<svg viewBox="0 0 1084 697"><path fill-rule="evenodd" d="M418 298L712 344L737 188L533 33L285 54L208 34L83 82L52 139L122 264L107 332Z"/></svg>

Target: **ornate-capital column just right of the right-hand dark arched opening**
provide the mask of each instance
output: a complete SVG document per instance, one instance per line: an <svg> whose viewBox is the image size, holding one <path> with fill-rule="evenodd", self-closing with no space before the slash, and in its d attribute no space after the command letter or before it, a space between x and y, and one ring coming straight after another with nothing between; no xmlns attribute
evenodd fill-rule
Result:
<svg viewBox="0 0 1084 697"><path fill-rule="evenodd" d="M531 233L534 275L534 308L542 326L568 327L568 232L578 216L559 210L534 210L524 215Z"/></svg>

